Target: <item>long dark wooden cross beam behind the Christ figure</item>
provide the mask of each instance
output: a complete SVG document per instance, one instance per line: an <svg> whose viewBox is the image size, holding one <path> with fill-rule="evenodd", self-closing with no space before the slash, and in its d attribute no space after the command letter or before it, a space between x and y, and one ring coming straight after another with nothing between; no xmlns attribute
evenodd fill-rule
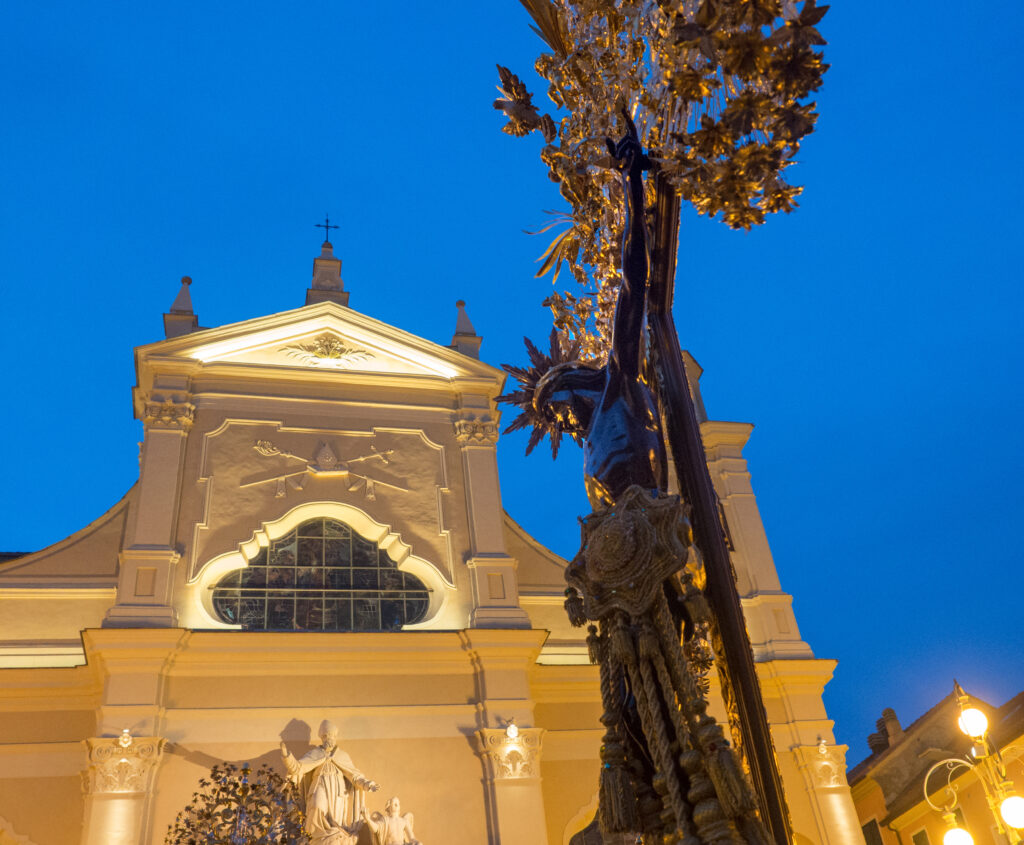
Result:
<svg viewBox="0 0 1024 845"><path fill-rule="evenodd" d="M672 300L679 244L680 198L663 175L655 177L654 231L652 233L649 314L651 357L656 373L665 431L680 493L690 504L694 541L707 569L706 595L721 644L719 677L730 722L738 722L741 752L748 761L758 796L761 817L778 845L793 841L790 816L778 773L761 686L751 651L735 575L721 523L703 441L693 408L676 326ZM731 700L731 701L730 701ZM738 743L737 743L738 744Z"/></svg>

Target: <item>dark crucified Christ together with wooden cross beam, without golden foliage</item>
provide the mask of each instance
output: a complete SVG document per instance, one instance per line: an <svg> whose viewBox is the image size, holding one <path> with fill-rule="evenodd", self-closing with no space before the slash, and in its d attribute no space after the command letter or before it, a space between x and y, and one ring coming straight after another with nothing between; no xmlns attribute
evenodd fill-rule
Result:
<svg viewBox="0 0 1024 845"><path fill-rule="evenodd" d="M649 231L644 172L654 167L624 117L625 136L607 141L626 199L607 363L555 361L553 335L551 357L527 344L534 368L506 366L520 389L499 400L522 410L506 430L531 425L529 448L545 433L553 451L563 433L584 448L594 512L565 571L565 609L589 626L600 667L601 830L645 845L782 845L784 797L672 321L680 197L655 175ZM670 462L681 497L668 492ZM708 713L711 652L735 749Z"/></svg>

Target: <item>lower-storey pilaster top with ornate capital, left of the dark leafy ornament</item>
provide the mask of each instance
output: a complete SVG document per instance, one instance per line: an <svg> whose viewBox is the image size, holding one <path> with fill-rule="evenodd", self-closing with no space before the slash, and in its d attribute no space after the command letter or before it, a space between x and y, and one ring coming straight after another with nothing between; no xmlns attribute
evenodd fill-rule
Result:
<svg viewBox="0 0 1024 845"><path fill-rule="evenodd" d="M153 774L163 755L159 736L119 736L84 741L88 767L83 772L85 825L82 845L136 845L144 841Z"/></svg>

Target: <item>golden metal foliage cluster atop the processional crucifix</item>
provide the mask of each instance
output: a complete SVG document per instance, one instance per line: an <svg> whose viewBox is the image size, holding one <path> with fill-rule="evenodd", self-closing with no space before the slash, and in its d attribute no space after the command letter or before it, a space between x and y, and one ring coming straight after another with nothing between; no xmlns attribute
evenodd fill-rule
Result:
<svg viewBox="0 0 1024 845"><path fill-rule="evenodd" d="M563 343L603 361L620 281L624 202L604 138L633 116L643 145L699 213L733 228L797 206L783 172L817 119L827 65L816 0L521 0L548 51L535 68L555 116L499 67L495 102L514 135L539 130L541 159L569 206L539 274L567 263L579 291L554 293ZM648 186L648 192L652 188ZM650 198L648 198L650 199Z"/></svg>

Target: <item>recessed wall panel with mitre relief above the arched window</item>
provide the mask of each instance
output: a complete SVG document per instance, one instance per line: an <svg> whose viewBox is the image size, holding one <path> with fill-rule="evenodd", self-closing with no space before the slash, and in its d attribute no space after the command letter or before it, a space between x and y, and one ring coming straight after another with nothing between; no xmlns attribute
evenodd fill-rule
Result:
<svg viewBox="0 0 1024 845"><path fill-rule="evenodd" d="M340 503L389 526L452 581L454 497L444 447L422 430L285 427L228 420L203 435L198 497L182 508L189 580L301 505ZM273 539L273 538L271 538Z"/></svg>

